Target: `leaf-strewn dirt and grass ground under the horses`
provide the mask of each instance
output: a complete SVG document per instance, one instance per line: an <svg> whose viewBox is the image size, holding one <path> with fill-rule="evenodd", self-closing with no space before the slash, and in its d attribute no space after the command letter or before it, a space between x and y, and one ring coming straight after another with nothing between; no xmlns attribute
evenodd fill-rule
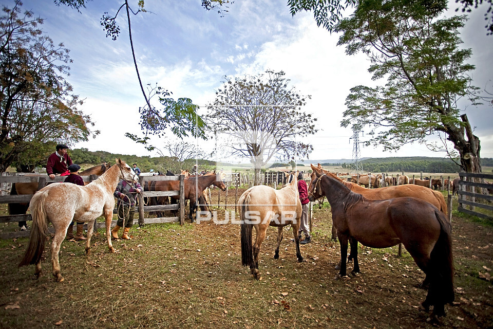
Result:
<svg viewBox="0 0 493 329"><path fill-rule="evenodd" d="M234 197L230 191L228 202ZM223 207L216 211L224 218ZM312 225L312 243L301 247L303 263L296 262L287 230L274 260L277 229L268 231L261 281L241 266L234 224L134 227L134 239L114 243L115 254L100 230L89 257L83 243L64 242L63 283L51 277L49 252L44 276L31 280L33 266L16 266L28 239L1 241L0 327L432 327L418 309L426 296L418 288L424 273L407 252L397 257L397 247L360 246L361 274L336 281L339 246L331 241L327 205L314 206ZM446 306L442 326L493 327L493 227L459 216L452 227L456 300Z"/></svg>

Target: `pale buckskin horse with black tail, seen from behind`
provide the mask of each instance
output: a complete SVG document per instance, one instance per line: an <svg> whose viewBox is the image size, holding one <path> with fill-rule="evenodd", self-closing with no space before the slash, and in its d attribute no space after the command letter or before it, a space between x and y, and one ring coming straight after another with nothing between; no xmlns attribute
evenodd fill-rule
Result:
<svg viewBox="0 0 493 329"><path fill-rule="evenodd" d="M296 258L302 262L299 250L298 229L301 217L301 202L299 200L298 180L293 180L280 190L270 186L257 185L241 194L238 205L241 221L241 263L250 266L255 279L260 280L258 271L258 254L260 245L266 237L269 226L277 226L277 247L274 259L279 259L279 246L282 241L282 229L286 225L293 228L296 244ZM252 245L252 228L255 227L256 238Z"/></svg>

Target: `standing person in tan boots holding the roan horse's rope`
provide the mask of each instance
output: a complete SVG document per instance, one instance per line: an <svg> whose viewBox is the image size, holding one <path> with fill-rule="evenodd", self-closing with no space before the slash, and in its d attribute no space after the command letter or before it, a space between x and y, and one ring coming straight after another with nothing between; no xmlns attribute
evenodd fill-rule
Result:
<svg viewBox="0 0 493 329"><path fill-rule="evenodd" d="M130 240L130 228L134 225L136 194L142 191L138 182L133 185L128 184L125 180L120 180L117 189L113 195L118 199L118 221L117 225L111 230L111 237L119 239L118 230L124 226L122 239Z"/></svg>

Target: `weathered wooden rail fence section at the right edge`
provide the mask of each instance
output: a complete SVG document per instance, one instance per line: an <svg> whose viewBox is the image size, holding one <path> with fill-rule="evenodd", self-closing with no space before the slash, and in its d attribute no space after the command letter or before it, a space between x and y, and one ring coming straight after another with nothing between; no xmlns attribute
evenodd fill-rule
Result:
<svg viewBox="0 0 493 329"><path fill-rule="evenodd" d="M493 211L493 206L477 203L476 199L493 201L493 196L489 194L475 193L476 188L491 189L492 186L487 183L476 182L475 180L480 179L493 179L492 174L472 174L472 173L459 173L459 206L457 210L460 212L465 212L474 216L488 218L493 220L492 216L475 211L475 207ZM468 187L468 188L466 188ZM469 190L469 191L466 191ZM466 199L469 198L469 200ZM464 206L468 205L470 209L465 209Z"/></svg>

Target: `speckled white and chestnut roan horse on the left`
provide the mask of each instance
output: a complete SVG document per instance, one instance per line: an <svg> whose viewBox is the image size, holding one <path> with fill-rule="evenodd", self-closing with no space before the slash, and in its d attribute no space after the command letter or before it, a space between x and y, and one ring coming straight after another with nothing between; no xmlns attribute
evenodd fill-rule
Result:
<svg viewBox="0 0 493 329"><path fill-rule="evenodd" d="M36 277L40 277L45 241L49 236L48 223L51 223L55 229L55 236L51 243L53 276L56 282L62 282L64 279L60 272L58 254L69 224L72 220L87 223L85 249L86 254L89 255L94 221L103 214L108 248L111 252L115 252L115 248L111 244L110 228L113 208L115 208L113 192L115 192L120 179L137 182L138 176L125 161L117 159L116 165L86 186L53 183L36 192L29 206L32 216L31 237L19 266L36 264L34 274Z"/></svg>

